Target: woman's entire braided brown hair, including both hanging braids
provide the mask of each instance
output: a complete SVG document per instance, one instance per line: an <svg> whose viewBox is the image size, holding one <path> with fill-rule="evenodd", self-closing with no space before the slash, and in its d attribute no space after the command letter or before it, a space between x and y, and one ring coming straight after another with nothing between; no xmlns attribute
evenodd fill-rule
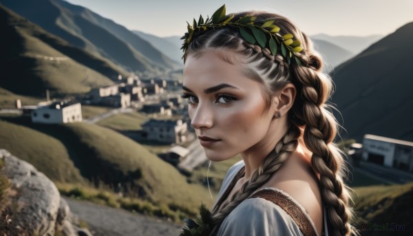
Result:
<svg viewBox="0 0 413 236"><path fill-rule="evenodd" d="M234 18L246 14L256 16L257 21L275 19L275 24L281 28L283 34L290 33L299 39L304 50L297 56L304 63L289 65L282 56L271 55L267 48L247 43L238 30L231 27L204 32L189 44L184 61L188 54L202 54L211 49L233 50L243 56L246 59L244 73L264 85L268 107L271 105L271 95L287 83L293 83L297 89L293 107L288 111L288 131L231 199L224 202L220 208L213 209L213 233L218 232L226 216L236 206L268 182L271 175L282 167L288 155L297 148L301 127L304 128L304 143L313 153L312 167L319 174L330 233L350 235L352 228L349 222L353 213L349 206L351 196L348 186L343 183L343 171L346 167L341 152L333 143L337 134L337 121L329 111L329 105L326 105L332 93L331 78L322 73L321 57L313 50L310 39L288 19L268 12L240 12L235 14Z"/></svg>

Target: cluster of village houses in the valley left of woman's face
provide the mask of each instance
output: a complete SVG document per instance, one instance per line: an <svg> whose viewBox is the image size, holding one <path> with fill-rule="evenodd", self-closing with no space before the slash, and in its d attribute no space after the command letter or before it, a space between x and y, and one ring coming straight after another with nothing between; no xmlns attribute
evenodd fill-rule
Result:
<svg viewBox="0 0 413 236"><path fill-rule="evenodd" d="M92 89L87 94L63 100L47 98L38 105L21 105L16 100L16 111L33 123L62 124L70 122L95 123L119 113L138 112L148 117L142 129L122 133L145 144L170 145L160 157L179 169L191 171L207 161L187 114L187 105L181 98L182 83L165 78L123 78L119 83ZM92 118L83 118L83 106L107 107L109 112Z"/></svg>

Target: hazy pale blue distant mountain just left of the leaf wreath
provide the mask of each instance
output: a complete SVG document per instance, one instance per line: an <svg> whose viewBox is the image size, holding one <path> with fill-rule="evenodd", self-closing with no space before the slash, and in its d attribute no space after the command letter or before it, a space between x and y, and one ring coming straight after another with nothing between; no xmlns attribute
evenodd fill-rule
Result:
<svg viewBox="0 0 413 236"><path fill-rule="evenodd" d="M140 36L140 38L145 39L148 42L151 42L151 44L156 47L160 52L166 54L170 58L172 58L174 61L178 61L181 64L181 67L183 65L182 61L182 50L180 50L180 45L176 45L176 43L173 43L169 41L168 39L161 38L152 34L147 34L144 32L140 32L138 30L132 30L134 34ZM181 43L182 44L182 43Z"/></svg>

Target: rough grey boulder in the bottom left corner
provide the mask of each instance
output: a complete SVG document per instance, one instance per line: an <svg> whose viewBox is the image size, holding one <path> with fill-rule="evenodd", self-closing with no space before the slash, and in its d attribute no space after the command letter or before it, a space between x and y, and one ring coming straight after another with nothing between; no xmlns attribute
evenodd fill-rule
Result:
<svg viewBox="0 0 413 236"><path fill-rule="evenodd" d="M3 160L1 174L11 182L8 230L15 228L14 232L23 235L52 236L56 231L67 236L91 235L87 229L78 226L76 215L70 212L56 186L43 173L5 149L0 149L0 160Z"/></svg>

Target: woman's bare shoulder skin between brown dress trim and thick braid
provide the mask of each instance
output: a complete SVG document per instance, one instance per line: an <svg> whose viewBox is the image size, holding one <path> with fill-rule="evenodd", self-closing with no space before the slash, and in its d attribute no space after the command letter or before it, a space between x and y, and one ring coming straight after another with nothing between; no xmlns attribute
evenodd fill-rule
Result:
<svg viewBox="0 0 413 236"><path fill-rule="evenodd" d="M303 206L318 233L322 230L323 208L319 180L304 153L292 153L282 168L263 187L281 189Z"/></svg>

